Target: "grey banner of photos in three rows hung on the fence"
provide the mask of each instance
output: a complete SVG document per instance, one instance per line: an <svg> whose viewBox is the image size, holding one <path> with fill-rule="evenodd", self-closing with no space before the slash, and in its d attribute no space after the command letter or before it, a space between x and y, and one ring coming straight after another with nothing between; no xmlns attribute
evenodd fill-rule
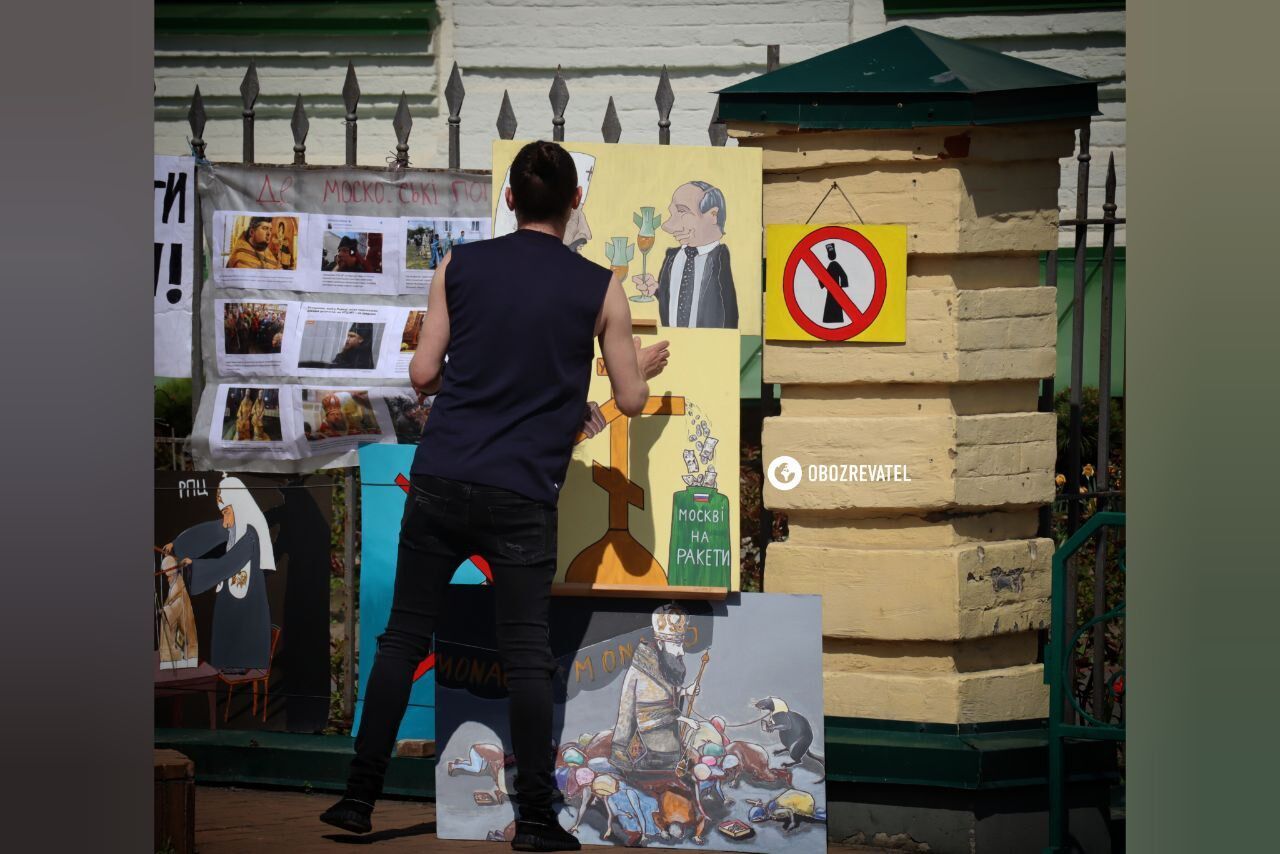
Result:
<svg viewBox="0 0 1280 854"><path fill-rule="evenodd" d="M200 463L302 471L416 443L431 398L410 360L444 256L492 237L488 175L201 164L198 184Z"/></svg>

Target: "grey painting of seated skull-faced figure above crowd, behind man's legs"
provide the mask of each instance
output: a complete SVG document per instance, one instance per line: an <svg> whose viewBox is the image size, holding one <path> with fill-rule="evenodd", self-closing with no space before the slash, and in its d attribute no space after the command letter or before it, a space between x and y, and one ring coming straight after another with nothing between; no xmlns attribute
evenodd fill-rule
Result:
<svg viewBox="0 0 1280 854"><path fill-rule="evenodd" d="M512 834L493 592L438 632L440 839ZM554 599L556 781L584 844L824 851L819 597ZM694 690L696 689L696 690Z"/></svg>

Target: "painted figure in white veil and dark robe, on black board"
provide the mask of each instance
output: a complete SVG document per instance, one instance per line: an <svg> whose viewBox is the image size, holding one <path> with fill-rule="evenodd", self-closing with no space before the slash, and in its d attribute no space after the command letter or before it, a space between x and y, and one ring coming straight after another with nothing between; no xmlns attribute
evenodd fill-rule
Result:
<svg viewBox="0 0 1280 854"><path fill-rule="evenodd" d="M214 626L209 663L223 671L266 668L271 656L271 612L265 570L275 570L275 553L266 517L239 478L218 484L221 519L188 528L164 553L191 568L189 589L214 588ZM205 557L219 545L219 557Z"/></svg>

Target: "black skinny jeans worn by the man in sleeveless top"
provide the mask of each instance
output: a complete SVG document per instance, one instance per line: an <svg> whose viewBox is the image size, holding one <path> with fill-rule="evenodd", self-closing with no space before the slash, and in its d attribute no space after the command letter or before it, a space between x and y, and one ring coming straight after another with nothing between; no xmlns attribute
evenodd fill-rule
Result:
<svg viewBox="0 0 1280 854"><path fill-rule="evenodd" d="M507 676L516 803L549 809L554 785L548 611L556 575L556 508L479 484L413 475L401 521L387 631L365 688L347 796L374 803L408 705L413 671L431 649L449 579L472 554L489 561L498 653Z"/></svg>

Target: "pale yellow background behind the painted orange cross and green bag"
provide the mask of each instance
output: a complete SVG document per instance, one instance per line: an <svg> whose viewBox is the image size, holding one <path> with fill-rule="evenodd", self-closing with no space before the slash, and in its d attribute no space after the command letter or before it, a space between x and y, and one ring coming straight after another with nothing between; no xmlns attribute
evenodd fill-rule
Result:
<svg viewBox="0 0 1280 854"><path fill-rule="evenodd" d="M655 146L654 146L655 147ZM591 192L595 192L594 188ZM739 530L739 343L732 329L660 329L658 334L641 334L644 346L655 341L671 342L667 369L649 380L649 394L678 394L686 399L686 415L643 415L630 424L630 479L644 489L644 510L628 508L631 535L653 554L666 570L671 547L672 497L685 489L687 474L684 451L696 453L692 434L692 407L703 411L718 439L716 458L717 489L728 497L730 516L730 583L740 588ZM599 357L599 346L596 346ZM589 398L604 403L612 396L608 376L599 376L591 366ZM570 562L591 545L608 529L608 493L591 479L591 461L609 465L609 430L586 439L573 448L573 460L559 497L559 542L557 580L564 580ZM700 465L700 469L705 466Z"/></svg>

